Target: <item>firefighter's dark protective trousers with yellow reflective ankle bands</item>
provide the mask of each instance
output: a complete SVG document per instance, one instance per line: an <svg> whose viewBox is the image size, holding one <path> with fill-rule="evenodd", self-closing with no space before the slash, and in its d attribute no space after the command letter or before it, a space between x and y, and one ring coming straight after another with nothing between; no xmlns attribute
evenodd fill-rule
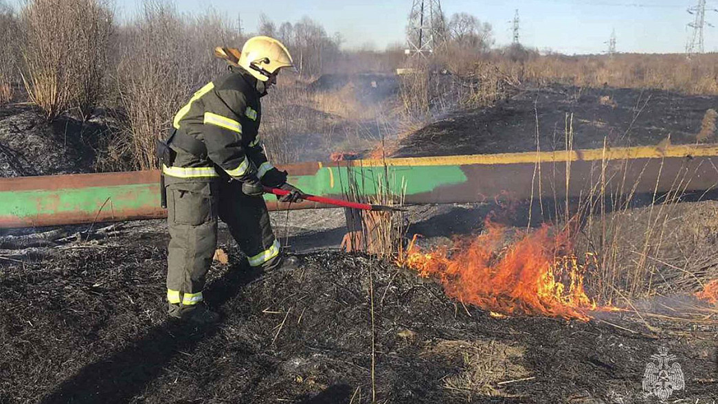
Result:
<svg viewBox="0 0 718 404"><path fill-rule="evenodd" d="M179 182L166 189L170 304L192 306L203 300L202 289L217 248L218 219L227 223L251 266L271 266L278 260L279 242L264 199L243 194L240 182Z"/></svg>

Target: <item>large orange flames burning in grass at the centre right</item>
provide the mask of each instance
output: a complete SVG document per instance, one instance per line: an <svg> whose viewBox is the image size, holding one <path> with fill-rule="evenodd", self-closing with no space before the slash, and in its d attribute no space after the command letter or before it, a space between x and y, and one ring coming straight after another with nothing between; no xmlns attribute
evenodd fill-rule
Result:
<svg viewBox="0 0 718 404"><path fill-rule="evenodd" d="M505 248L503 228L491 222L486 228L485 234L456 240L451 251L424 253L412 240L400 263L420 276L437 276L448 296L487 311L588 321L587 312L599 309L584 291L585 268L597 265L595 255L587 254L588 265L579 263L566 253L567 236L549 235L549 227Z"/></svg>

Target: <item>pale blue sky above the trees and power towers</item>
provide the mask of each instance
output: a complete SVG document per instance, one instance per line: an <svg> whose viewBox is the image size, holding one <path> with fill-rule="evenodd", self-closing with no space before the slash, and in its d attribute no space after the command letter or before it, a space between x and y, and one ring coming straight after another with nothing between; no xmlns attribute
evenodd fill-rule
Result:
<svg viewBox="0 0 718 404"><path fill-rule="evenodd" d="M124 15L139 0L116 0ZM340 32L345 45L371 43L378 49L404 41L411 0L175 0L182 12L201 12L212 6L230 18L241 15L243 28L256 29L259 15L275 22L296 22L309 16L328 34ZM686 12L697 0L444 0L447 15L465 11L493 25L497 44L511 41L509 21L514 10L521 17L521 42L539 50L567 54L603 52L615 29L619 52L683 52L693 17ZM718 0L708 0L718 9ZM707 11L718 26L718 12ZM705 49L718 51L718 28L706 28Z"/></svg>

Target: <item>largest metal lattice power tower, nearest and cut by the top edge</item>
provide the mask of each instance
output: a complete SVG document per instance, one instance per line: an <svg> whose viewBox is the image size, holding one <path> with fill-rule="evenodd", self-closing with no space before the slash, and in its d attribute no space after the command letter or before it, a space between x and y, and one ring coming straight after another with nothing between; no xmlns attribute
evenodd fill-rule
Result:
<svg viewBox="0 0 718 404"><path fill-rule="evenodd" d="M406 29L407 55L434 52L444 41L444 14L439 0L414 0Z"/></svg>

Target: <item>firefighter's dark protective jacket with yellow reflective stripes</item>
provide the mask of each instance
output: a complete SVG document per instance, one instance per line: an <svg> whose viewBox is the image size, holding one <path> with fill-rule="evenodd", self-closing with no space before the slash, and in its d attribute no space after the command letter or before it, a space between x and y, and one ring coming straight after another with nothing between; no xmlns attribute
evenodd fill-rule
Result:
<svg viewBox="0 0 718 404"><path fill-rule="evenodd" d="M197 90L172 124L178 133L202 142L206 151L197 156L171 141L177 156L172 166L162 166L167 181L204 182L223 173L245 181L276 171L258 138L262 95L264 83L239 67Z"/></svg>

